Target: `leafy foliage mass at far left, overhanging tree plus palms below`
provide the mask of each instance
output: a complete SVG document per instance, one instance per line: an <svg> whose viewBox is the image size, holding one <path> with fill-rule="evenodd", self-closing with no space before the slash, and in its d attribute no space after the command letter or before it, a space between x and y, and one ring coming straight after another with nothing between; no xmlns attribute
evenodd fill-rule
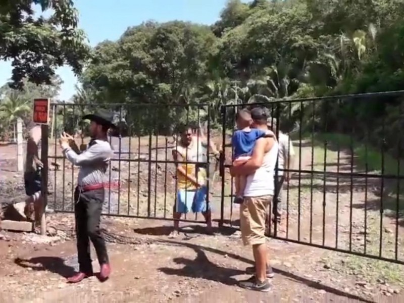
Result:
<svg viewBox="0 0 404 303"><path fill-rule="evenodd" d="M36 17L35 9L48 17ZM31 120L34 97L58 95L58 67L67 64L75 74L82 72L90 47L77 16L71 0L0 1L0 60L13 67L10 83L0 88L2 139L15 138L17 118L25 124Z"/></svg>

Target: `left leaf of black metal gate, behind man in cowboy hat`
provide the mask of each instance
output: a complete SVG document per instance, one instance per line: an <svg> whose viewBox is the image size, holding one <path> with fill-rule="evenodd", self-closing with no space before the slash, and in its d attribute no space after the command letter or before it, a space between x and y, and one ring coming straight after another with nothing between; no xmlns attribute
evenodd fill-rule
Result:
<svg viewBox="0 0 404 303"><path fill-rule="evenodd" d="M52 104L53 119L48 148L48 178L54 183L48 206L56 212L73 212L73 193L77 183L78 167L72 166L62 155L59 137L67 132L84 150L89 141L86 113L105 108L115 112L118 131L109 134L114 157L108 168L108 187L103 215L172 220L176 206L176 169L172 149L180 142L178 132L185 128L205 132L197 140L210 140L209 105L157 105L157 104ZM199 142L199 141L198 141ZM198 145L199 146L199 145ZM204 148L204 144L201 144ZM206 187L210 191L211 165L209 153L204 149L197 161L178 164L206 168ZM211 204L209 194L206 201ZM202 216L185 216L181 221L204 222Z"/></svg>

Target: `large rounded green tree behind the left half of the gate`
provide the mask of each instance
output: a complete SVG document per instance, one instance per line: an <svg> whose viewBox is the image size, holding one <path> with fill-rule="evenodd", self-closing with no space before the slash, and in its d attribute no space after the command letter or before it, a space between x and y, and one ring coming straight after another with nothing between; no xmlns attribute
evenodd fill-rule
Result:
<svg viewBox="0 0 404 303"><path fill-rule="evenodd" d="M129 28L117 42L95 47L81 78L83 88L93 90L100 102L128 103L128 123L139 132L166 132L182 117L196 122L197 111L185 105L196 102L195 88L207 79L215 41L208 26L186 22L146 22ZM177 103L184 107L167 112L168 105Z"/></svg>

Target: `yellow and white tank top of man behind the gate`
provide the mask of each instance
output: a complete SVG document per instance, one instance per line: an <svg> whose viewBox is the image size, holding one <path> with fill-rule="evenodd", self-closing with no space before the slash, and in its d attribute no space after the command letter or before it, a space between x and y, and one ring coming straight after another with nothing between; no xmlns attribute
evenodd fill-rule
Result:
<svg viewBox="0 0 404 303"><path fill-rule="evenodd" d="M198 147L199 145L199 147ZM175 149L177 153L179 153L183 161L191 161L191 162L202 162L203 161L203 146L197 140L193 141L193 144L186 148L183 146L177 146ZM186 171L187 175L189 176L196 176L196 180L198 182L206 182L206 170L203 168L199 168L196 171L195 164L180 164L184 170ZM177 177L177 187L178 189L187 189L187 190L194 190L196 189L195 185L189 181L184 175L180 174L178 171L176 173Z"/></svg>

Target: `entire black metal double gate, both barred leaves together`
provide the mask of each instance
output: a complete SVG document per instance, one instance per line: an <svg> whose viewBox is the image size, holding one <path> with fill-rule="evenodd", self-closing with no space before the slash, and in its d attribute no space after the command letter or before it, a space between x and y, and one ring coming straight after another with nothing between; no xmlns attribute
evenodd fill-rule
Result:
<svg viewBox="0 0 404 303"><path fill-rule="evenodd" d="M404 119L396 106L403 95L398 91L226 105L221 108L219 142L212 136L217 130L212 130L208 104L52 104L51 140L43 145L54 183L48 205L57 212L72 212L74 206L78 168L61 154L61 132L76 134L84 147L88 133L81 117L104 107L115 111L119 128L110 136L115 154L104 215L171 220L177 198L171 155L179 142L176 134L180 126L196 131L204 124L198 140L222 143L220 165L206 150L203 159L181 164L206 168L211 193L207 204L219 226L234 226L238 211L227 170L234 116L236 108L260 106L267 109L277 138L284 145L292 143L295 151L294 166L275 170L276 178L289 178L283 182L281 205L273 203L282 210L282 220L270 225L271 237L404 264ZM201 216L190 217L185 220L204 222Z"/></svg>

